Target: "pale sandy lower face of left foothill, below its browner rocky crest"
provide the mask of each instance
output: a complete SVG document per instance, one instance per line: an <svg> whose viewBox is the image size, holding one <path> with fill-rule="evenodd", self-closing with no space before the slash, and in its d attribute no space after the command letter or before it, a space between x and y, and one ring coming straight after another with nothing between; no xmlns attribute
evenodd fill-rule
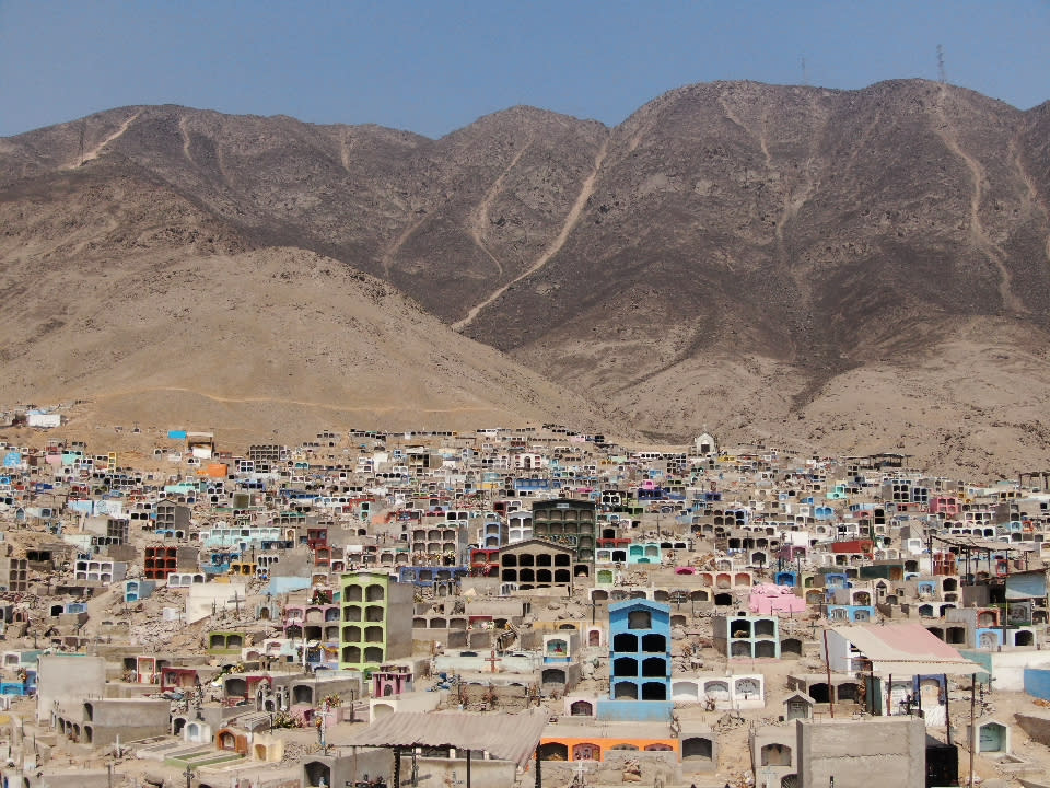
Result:
<svg viewBox="0 0 1050 788"><path fill-rule="evenodd" d="M101 276L38 278L50 286L47 314L23 302L2 317L8 335L27 337L4 348L8 404L89 399L78 409L85 421L217 426L254 439L322 427L602 424L578 397L312 252L137 257Z"/></svg>

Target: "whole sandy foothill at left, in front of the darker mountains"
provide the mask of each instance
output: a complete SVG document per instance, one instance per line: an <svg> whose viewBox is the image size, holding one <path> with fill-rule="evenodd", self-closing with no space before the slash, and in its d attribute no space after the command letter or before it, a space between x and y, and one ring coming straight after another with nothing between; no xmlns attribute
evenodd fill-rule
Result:
<svg viewBox="0 0 1050 788"><path fill-rule="evenodd" d="M0 402L86 399L81 427L215 426L242 443L322 427L608 428L382 280L249 250L164 186L105 169L48 173L0 204Z"/></svg>

